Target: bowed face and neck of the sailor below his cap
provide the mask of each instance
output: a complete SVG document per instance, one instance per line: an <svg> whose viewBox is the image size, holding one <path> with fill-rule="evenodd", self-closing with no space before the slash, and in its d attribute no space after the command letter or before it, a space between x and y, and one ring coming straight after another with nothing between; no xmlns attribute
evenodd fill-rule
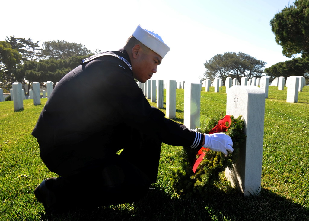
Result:
<svg viewBox="0 0 309 221"><path fill-rule="evenodd" d="M139 50L135 65L132 67L134 78L142 83L146 82L157 72L157 66L161 61L162 58L153 50L148 48Z"/></svg>

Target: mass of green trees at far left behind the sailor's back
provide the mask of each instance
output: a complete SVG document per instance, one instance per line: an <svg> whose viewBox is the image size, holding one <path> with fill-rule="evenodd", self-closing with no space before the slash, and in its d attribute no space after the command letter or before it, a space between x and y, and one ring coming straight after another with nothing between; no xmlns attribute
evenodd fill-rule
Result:
<svg viewBox="0 0 309 221"><path fill-rule="evenodd" d="M6 36L0 41L0 82L3 89L11 88L13 82L53 81L56 83L81 59L92 55L85 46L67 41L40 41L31 38ZM100 53L100 50L95 50Z"/></svg>

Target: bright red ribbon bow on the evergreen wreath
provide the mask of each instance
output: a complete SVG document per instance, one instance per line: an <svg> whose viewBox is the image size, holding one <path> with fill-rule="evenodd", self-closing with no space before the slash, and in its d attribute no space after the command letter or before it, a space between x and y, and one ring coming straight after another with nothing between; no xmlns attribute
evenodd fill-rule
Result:
<svg viewBox="0 0 309 221"><path fill-rule="evenodd" d="M230 126L231 126L231 116L230 116L230 115L225 115L224 118L222 118L221 120L219 120L219 121L218 121L218 124L217 124L214 128L212 128L208 134L226 132L226 131L227 131L227 128L228 128L228 127L226 127L226 122L227 122L227 121L229 122L229 126L228 126L228 127L230 127ZM204 158L204 156L205 156L205 152L203 152L203 150L204 150L204 151L208 151L209 149L208 149L208 148L205 148L205 147L202 147L202 148L198 151L198 153L197 153L197 157L198 157L198 158L195 159L195 161L194 161L194 163L193 163L193 168L192 168L193 173L195 173L197 167L200 165L200 163L202 162L202 160L203 160L203 158Z"/></svg>

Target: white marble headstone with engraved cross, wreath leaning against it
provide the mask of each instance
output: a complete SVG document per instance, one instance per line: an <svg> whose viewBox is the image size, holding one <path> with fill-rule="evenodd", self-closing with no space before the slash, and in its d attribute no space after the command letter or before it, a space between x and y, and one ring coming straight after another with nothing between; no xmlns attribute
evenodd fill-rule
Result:
<svg viewBox="0 0 309 221"><path fill-rule="evenodd" d="M257 86L233 86L226 97L226 115L242 115L247 136L233 169L226 169L226 178L245 196L257 195L262 176L264 92Z"/></svg>

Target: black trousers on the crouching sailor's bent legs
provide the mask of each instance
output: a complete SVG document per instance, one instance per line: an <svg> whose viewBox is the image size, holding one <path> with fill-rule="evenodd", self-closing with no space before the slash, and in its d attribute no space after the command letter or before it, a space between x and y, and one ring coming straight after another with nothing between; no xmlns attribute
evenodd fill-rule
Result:
<svg viewBox="0 0 309 221"><path fill-rule="evenodd" d="M115 150L121 147L102 147L98 137L41 153L50 171L61 176L52 187L57 203L107 206L141 199L156 182L161 141L155 135L139 134L121 143L120 155Z"/></svg>

